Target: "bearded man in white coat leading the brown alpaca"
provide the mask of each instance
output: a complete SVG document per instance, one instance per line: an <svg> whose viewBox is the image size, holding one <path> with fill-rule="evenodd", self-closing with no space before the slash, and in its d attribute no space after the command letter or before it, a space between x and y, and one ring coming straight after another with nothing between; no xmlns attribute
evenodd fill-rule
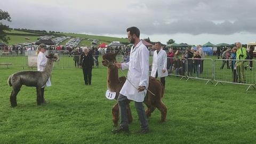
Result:
<svg viewBox="0 0 256 144"><path fill-rule="evenodd" d="M130 61L127 63L115 63L117 68L129 69L127 79L118 95L118 106L121 122L113 133L129 132L126 105L127 100L135 102L135 108L140 119L140 133L148 133L148 122L143 107L146 89L149 82L149 51L140 40L140 30L137 27L127 28L127 36L133 44Z"/></svg>

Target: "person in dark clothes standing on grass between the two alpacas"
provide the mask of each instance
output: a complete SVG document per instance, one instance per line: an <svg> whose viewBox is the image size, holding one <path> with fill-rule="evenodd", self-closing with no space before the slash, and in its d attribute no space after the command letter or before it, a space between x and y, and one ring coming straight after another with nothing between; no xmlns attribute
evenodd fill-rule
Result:
<svg viewBox="0 0 256 144"><path fill-rule="evenodd" d="M84 83L85 85L91 85L92 79L92 67L94 65L92 54L89 53L87 47L84 48L84 52L80 55L79 67L83 68Z"/></svg>

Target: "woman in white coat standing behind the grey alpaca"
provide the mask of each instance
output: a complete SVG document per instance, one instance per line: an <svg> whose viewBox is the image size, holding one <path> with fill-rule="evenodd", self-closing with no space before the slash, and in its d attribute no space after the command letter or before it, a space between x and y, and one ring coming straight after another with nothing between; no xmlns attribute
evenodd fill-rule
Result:
<svg viewBox="0 0 256 144"><path fill-rule="evenodd" d="M37 71L44 71L45 70L45 66L46 66L46 62L47 62L47 58L45 57L45 51L46 51L46 45L45 44L39 44L39 46L37 47L36 50L36 54L37 54ZM44 87L45 86L51 86L51 79L49 77L48 81L45 83L44 86L42 86L42 97L43 97L43 102L47 103L44 99Z"/></svg>

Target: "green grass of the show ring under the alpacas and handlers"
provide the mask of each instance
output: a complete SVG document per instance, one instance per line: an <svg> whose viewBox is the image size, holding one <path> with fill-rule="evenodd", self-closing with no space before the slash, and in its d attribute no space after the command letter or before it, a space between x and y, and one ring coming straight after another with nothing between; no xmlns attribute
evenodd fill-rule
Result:
<svg viewBox="0 0 256 144"><path fill-rule="evenodd" d="M22 68L0 69L0 143L256 142L255 91L245 92L246 86L215 87L205 81L166 77L163 102L168 108L167 121L159 123L160 113L155 110L149 118L150 133L137 134L139 121L132 102L131 133L112 134L115 101L105 98L107 68L94 68L92 85L86 86L82 70L62 69L61 61L52 71L52 86L46 87L45 98L50 103L42 106L36 105L35 88L22 86L18 107L10 108L11 87L6 81Z"/></svg>

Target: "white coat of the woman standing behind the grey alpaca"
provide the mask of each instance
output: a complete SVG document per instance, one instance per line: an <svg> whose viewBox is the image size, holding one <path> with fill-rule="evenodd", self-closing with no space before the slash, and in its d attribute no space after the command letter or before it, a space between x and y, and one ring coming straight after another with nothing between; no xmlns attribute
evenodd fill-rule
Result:
<svg viewBox="0 0 256 144"><path fill-rule="evenodd" d="M46 62L47 62L47 58L45 57L45 54L42 52L39 52L37 56L37 71L44 71ZM49 77L45 85L43 85L42 87L51 86L51 85L52 85L51 78Z"/></svg>

